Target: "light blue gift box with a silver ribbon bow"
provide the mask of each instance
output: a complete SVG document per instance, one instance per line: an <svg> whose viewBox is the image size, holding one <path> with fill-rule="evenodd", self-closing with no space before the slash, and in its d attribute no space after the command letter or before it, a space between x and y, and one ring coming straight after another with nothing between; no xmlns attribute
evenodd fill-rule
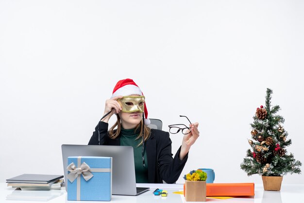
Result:
<svg viewBox="0 0 304 203"><path fill-rule="evenodd" d="M112 157L68 157L68 200L111 201Z"/></svg>

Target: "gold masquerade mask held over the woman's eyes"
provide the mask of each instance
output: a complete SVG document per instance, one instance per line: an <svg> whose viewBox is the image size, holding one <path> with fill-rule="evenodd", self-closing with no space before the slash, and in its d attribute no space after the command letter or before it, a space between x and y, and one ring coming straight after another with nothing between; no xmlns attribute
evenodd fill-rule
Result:
<svg viewBox="0 0 304 203"><path fill-rule="evenodd" d="M144 96L123 96L117 100L121 105L122 112L133 113L144 112L145 97Z"/></svg>

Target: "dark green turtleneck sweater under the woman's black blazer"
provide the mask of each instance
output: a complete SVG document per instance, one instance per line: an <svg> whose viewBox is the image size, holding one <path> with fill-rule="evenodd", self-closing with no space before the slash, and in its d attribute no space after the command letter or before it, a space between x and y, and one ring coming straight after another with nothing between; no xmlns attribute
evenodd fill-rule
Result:
<svg viewBox="0 0 304 203"><path fill-rule="evenodd" d="M136 140L139 135L139 131L135 132L135 129L123 129L120 130L120 146L132 146L134 150L134 163L135 163L135 177L136 183L148 183L148 162L146 149L144 151L145 165L142 163L142 145L138 147L141 139Z"/></svg>

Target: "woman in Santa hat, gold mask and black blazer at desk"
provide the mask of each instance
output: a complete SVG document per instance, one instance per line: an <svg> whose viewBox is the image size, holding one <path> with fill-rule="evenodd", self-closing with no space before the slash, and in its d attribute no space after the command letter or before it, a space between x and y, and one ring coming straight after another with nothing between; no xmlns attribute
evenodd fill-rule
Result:
<svg viewBox="0 0 304 203"><path fill-rule="evenodd" d="M113 114L117 122L108 131L108 121ZM174 158L169 132L150 129L149 124L145 97L139 87L132 79L119 80L111 98L105 102L104 116L88 144L133 146L136 183L175 183L186 164L190 147L199 137L199 124L189 125L189 132Z"/></svg>

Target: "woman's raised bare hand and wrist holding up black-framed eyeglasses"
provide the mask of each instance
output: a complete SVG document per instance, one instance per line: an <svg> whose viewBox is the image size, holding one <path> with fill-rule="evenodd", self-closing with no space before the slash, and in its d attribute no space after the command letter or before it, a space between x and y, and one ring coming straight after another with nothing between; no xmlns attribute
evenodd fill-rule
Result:
<svg viewBox="0 0 304 203"><path fill-rule="evenodd" d="M197 138L200 136L198 126L199 123L193 123L189 125L191 129L188 134L184 135L182 147L180 151L180 160L183 160L186 157L186 154L189 152L190 147L195 143Z"/></svg>

